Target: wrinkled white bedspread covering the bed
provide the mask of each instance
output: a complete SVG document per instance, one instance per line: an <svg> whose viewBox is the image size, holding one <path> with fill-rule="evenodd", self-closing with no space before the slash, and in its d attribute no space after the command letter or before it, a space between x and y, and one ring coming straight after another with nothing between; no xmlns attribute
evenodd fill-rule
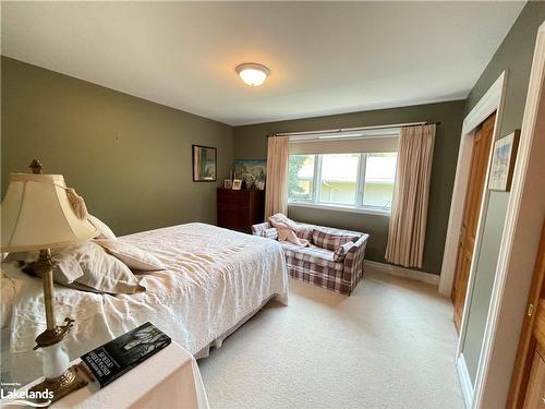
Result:
<svg viewBox="0 0 545 409"><path fill-rule="evenodd" d="M56 285L58 323L75 320L64 346L71 359L150 321L196 353L255 311L272 294L288 301L288 278L279 243L204 224L187 224L125 236L155 254L168 270L142 275L146 292L96 294ZM41 280L13 266L10 372L26 384L40 375L34 339L44 330Z"/></svg>

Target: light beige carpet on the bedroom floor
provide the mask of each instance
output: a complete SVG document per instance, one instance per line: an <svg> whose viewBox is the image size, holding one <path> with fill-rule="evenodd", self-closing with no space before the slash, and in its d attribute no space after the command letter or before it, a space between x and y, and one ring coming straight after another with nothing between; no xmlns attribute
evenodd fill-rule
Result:
<svg viewBox="0 0 545 409"><path fill-rule="evenodd" d="M452 306L434 287L366 274L351 297L290 281L199 360L214 408L463 408Z"/></svg>

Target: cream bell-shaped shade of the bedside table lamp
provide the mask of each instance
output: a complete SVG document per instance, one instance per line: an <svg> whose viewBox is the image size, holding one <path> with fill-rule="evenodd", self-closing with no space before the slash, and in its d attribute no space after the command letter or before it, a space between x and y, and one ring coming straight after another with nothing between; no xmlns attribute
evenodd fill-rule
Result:
<svg viewBox="0 0 545 409"><path fill-rule="evenodd" d="M69 191L61 175L10 175L1 208L2 252L61 248L98 236L87 217L77 216Z"/></svg>

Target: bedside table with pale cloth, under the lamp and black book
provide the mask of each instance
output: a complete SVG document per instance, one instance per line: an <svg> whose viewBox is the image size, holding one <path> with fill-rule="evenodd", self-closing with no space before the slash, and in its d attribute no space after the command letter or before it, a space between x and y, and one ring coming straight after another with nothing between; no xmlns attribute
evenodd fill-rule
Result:
<svg viewBox="0 0 545 409"><path fill-rule="evenodd" d="M2 407L21 408L13 405ZM195 358L172 342L102 389L89 383L50 408L208 409L208 400Z"/></svg>

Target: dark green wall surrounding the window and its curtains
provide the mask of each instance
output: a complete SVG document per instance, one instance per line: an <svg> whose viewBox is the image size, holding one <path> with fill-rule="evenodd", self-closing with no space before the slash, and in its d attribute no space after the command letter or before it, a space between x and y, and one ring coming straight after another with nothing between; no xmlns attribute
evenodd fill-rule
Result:
<svg viewBox="0 0 545 409"><path fill-rule="evenodd" d="M266 135L278 132L384 125L389 123L437 121L434 147L429 212L423 270L439 274L447 232L456 161L462 131L464 101L428 104L327 117L267 122L234 129L234 156L238 159L267 157ZM366 256L384 263L389 217L359 213L290 206L289 216L299 221L360 230L371 234Z"/></svg>

